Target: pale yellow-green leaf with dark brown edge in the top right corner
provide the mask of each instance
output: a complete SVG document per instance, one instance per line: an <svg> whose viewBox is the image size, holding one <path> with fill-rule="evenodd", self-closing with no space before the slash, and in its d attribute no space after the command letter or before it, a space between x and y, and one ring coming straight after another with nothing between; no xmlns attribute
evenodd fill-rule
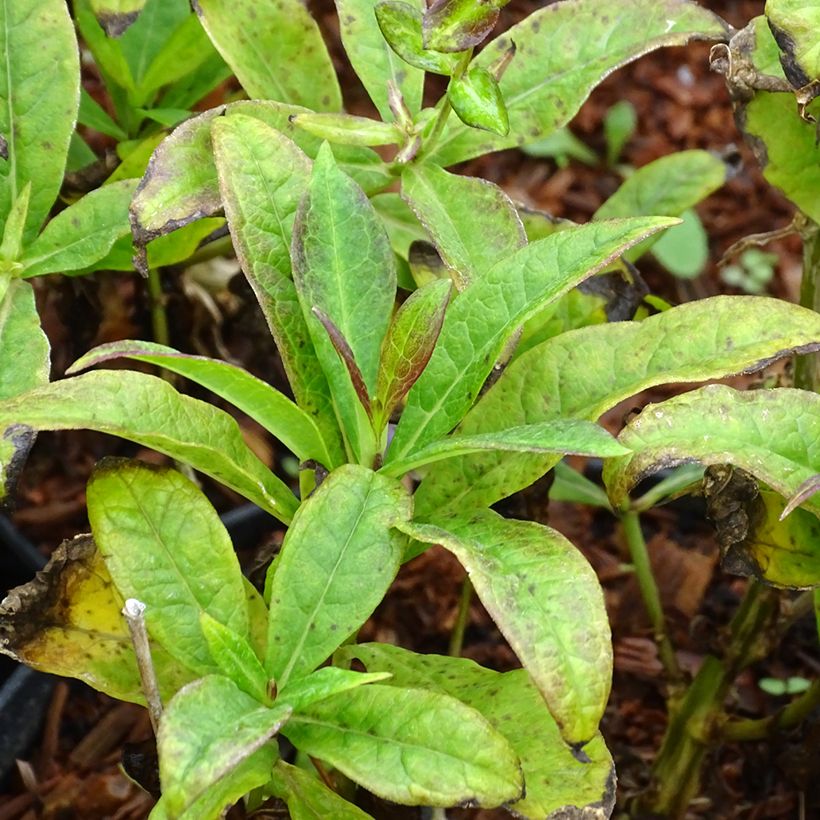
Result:
<svg viewBox="0 0 820 820"><path fill-rule="evenodd" d="M811 0L766 0L766 17L795 87L820 78L820 8ZM795 82L796 81L796 82Z"/></svg>

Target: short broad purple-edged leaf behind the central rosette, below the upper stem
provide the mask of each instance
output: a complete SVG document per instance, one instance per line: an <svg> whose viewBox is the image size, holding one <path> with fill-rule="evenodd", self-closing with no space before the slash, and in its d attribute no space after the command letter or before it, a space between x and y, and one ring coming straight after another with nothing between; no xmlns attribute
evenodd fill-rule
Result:
<svg viewBox="0 0 820 820"><path fill-rule="evenodd" d="M460 290L526 244L510 198L483 179L408 165L402 196L427 229Z"/></svg>

